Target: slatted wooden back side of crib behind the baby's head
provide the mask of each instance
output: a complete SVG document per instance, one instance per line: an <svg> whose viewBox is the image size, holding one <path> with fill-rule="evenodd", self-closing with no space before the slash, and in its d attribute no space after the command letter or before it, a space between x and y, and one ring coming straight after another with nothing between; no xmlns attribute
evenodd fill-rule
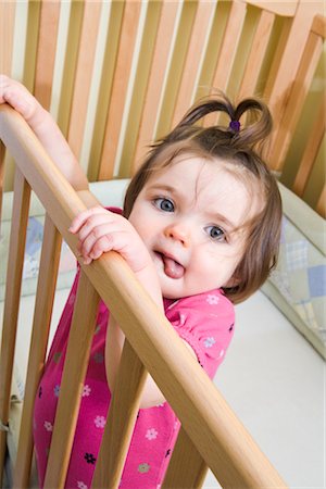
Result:
<svg viewBox="0 0 326 489"><path fill-rule="evenodd" d="M302 89L298 67L322 0L23 3L1 4L4 72L21 74L51 110L91 180L133 175L155 138L221 89L231 99L268 102L269 165L296 176L298 159L286 149L300 139L290 98ZM23 16L26 33L17 41ZM7 188L11 179L9 172Z"/></svg>

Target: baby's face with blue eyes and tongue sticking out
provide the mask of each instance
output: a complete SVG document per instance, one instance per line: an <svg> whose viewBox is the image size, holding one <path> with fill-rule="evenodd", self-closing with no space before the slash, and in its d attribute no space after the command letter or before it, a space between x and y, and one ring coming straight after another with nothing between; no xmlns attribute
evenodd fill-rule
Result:
<svg viewBox="0 0 326 489"><path fill-rule="evenodd" d="M261 199L230 163L183 155L151 176L129 221L155 263L163 297L177 299L236 284L248 230Z"/></svg>

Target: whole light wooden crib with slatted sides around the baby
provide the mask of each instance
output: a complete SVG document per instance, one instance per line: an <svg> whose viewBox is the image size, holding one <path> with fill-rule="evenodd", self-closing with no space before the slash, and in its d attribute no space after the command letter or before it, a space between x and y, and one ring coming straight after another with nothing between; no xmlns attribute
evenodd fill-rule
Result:
<svg viewBox="0 0 326 489"><path fill-rule="evenodd" d="M325 267L325 183L321 178L325 87L319 87L317 95L311 89L318 78L325 38L322 2L42 1L30 2L27 10L26 5L0 5L1 71L15 74L17 70L14 33L25 9L25 73L21 72L21 78L57 116L93 181L95 193L101 187L101 192L113 196L116 185L124 186L146 146L166 133L210 87L230 97L260 95L268 101L275 120L268 161L280 178L286 230L294 226L300 238L293 241L306 242L304 250L313 248L306 253L312 255L314 268ZM64 57L59 57L62 50ZM313 115L309 112L312 103L318 108ZM302 126L306 118L309 130ZM296 149L302 147L302 134L308 133L299 158ZM0 138L8 149L1 147L0 174L7 190L2 214L11 206L12 183L14 188L0 360L0 464L10 459L13 487L23 488L32 484L32 412L47 355L61 242L63 239L63 248L76 254L68 224L98 200L91 192L76 193L71 188L24 121L8 106L0 111ZM300 163L293 164L293 160ZM8 457L10 419L17 409L12 402L13 389L18 387L14 349L21 288L27 287L22 284L22 271L28 211L40 205L35 196L45 209L43 246L37 287L36 280L29 285L36 288L32 353L27 377L20 379L28 388L18 409L16 453L11 455L14 450L8 446ZM286 250L291 248L287 244ZM322 292L314 294L314 301L299 297L293 306L281 281L283 265L280 256L264 293L325 356L325 328L319 319L324 297ZM45 486L64 487L93 319L102 298L126 335L116 384L128 381L130 387L114 392L92 487L118 487L147 371L183 426L162 487L202 487L208 467L222 487L286 487L223 396L184 351L124 261L108 253L82 269L67 353L74 361L66 361ZM60 279L68 280L62 274ZM83 309L86 302L87 311ZM176 361L180 358L183 362ZM65 447L62 432L68 434Z"/></svg>

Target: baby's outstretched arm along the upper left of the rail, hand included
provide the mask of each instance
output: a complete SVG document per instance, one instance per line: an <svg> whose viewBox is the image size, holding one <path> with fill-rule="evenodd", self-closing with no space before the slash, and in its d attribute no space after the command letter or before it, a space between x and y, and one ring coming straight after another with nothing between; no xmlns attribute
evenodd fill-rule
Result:
<svg viewBox="0 0 326 489"><path fill-rule="evenodd" d="M72 186L76 190L88 189L86 175L50 113L22 84L0 75L0 103L5 102L23 115Z"/></svg>

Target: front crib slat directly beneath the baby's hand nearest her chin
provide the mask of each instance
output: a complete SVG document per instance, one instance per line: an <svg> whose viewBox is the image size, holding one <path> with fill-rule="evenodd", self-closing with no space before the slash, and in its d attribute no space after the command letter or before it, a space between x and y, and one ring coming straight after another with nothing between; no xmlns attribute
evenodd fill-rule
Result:
<svg viewBox="0 0 326 489"><path fill-rule="evenodd" d="M63 489L65 485L99 299L98 292L82 272L60 386L45 487Z"/></svg>

